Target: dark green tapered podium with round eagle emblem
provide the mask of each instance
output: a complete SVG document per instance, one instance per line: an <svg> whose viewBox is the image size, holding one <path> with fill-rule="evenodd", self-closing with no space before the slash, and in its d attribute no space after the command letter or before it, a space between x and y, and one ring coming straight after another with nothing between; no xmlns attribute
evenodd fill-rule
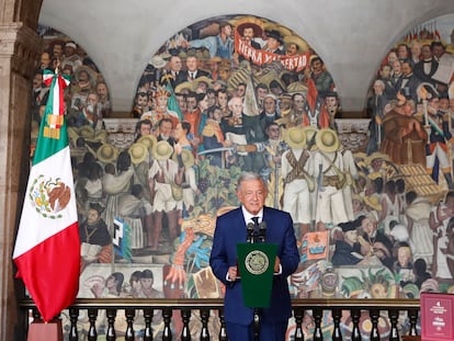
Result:
<svg viewBox="0 0 454 341"><path fill-rule="evenodd" d="M238 243L237 254L245 306L269 307L277 245Z"/></svg>

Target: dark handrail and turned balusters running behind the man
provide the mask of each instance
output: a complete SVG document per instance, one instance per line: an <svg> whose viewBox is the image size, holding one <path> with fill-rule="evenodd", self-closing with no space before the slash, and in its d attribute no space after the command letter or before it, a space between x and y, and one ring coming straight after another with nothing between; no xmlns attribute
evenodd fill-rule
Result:
<svg viewBox="0 0 454 341"><path fill-rule="evenodd" d="M41 317L36 310L34 302L30 298L22 299L19 302L19 306L22 310L33 311L34 321L39 321ZM152 317L154 311L160 310L163 319L163 330L160 340L171 341L173 340L171 331L171 320L172 318L181 319L182 330L180 331L181 340L192 340L191 339L191 328L190 319L191 311L200 312L200 327L194 330L198 333L200 340L208 341L211 340L208 331L208 320L211 319L209 311L216 311L215 315L218 318L220 323L220 329L218 332L218 340L227 341L227 334L225 329L224 312L223 312L224 302L220 298L78 298L73 302L69 309L69 318L71 321L69 340L78 340L78 329L77 321L79 318L79 311L82 309L88 310L88 317L90 320L89 328L89 339L97 340L97 328L95 320L99 310L106 311L107 329L106 329L106 340L116 340L115 334L115 316L117 310L125 310L125 317L127 321L126 330L123 330L125 334L125 340L134 340L134 317L135 311L143 310L145 317L145 329L143 332L147 337L144 340L150 341L154 340L152 337ZM342 340L341 332L341 317L343 310L350 310L352 329L351 329L351 340L360 341L362 339L360 332L360 319L362 311L368 311L371 318L372 329L370 331L371 341L379 341L379 328L378 319L383 316L382 311L386 311L389 320L389 330L388 330L388 340L398 341L400 340L399 328L398 328L398 318L400 312L405 311L409 320L408 338L419 339L417 336L417 322L418 315L420 311L420 302L419 299L370 299L370 298L297 298L292 300L293 316L295 320L295 329L292 331L293 338L295 341L304 341L305 332L311 333L311 339L314 341L324 340L322 331L322 318L324 310L330 310L333 329L332 329L332 340L340 341ZM175 311L175 312L173 312ZM178 311L178 314L177 314ZM305 314L310 311L314 325L309 328L304 326ZM30 317L30 315L26 315ZM25 315L23 315L24 317ZM23 319L25 323L25 330L29 327L30 320L27 318ZM259 326L260 319L254 318L256 326ZM305 330L305 331L304 331ZM407 337L404 337L404 339ZM217 338L215 338L217 340Z"/></svg>

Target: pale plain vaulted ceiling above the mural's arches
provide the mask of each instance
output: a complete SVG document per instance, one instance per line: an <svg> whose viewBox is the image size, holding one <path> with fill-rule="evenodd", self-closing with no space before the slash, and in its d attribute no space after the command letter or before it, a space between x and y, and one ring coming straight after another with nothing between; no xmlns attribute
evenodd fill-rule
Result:
<svg viewBox="0 0 454 341"><path fill-rule="evenodd" d="M150 56L170 36L212 16L263 16L304 37L330 70L343 110L361 112L386 52L416 25L450 13L447 0L44 0L39 23L83 47L107 81L114 111L127 112Z"/></svg>

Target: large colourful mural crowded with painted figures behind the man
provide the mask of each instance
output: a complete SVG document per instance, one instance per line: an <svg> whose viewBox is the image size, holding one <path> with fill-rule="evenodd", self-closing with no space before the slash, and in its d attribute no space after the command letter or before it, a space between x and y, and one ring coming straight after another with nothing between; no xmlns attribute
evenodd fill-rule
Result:
<svg viewBox="0 0 454 341"><path fill-rule="evenodd" d="M122 118L110 116L95 64L43 29L42 67L59 62L73 76L79 297L223 297L208 259L216 216L238 205L242 171L260 173L266 205L293 217L302 257L293 297L454 292L453 29L454 16L443 16L396 42L370 90L371 120L355 121L342 120L322 56L263 18L218 16L169 33ZM34 126L42 88L36 79Z"/></svg>

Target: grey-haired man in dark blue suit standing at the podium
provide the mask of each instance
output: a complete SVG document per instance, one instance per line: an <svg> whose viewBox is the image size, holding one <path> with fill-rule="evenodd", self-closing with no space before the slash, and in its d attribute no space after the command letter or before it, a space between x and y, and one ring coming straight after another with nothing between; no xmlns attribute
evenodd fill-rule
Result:
<svg viewBox="0 0 454 341"><path fill-rule="evenodd" d="M292 304L287 276L299 262L295 231L288 213L264 207L266 186L257 173L242 173L238 181L241 206L217 218L209 265L226 285L224 316L230 341L253 340L254 309L243 305L243 293L237 274L237 243L246 242L247 225L252 217L266 224L265 242L279 246L274 262L271 303L261 309L260 341L284 341Z"/></svg>

